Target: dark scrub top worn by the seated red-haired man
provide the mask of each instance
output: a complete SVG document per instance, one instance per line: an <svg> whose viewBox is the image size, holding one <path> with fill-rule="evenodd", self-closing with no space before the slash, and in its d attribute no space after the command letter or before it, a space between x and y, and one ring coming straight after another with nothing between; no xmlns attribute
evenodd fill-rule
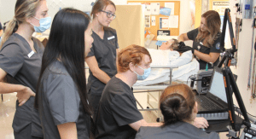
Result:
<svg viewBox="0 0 256 139"><path fill-rule="evenodd" d="M129 124L143 119L128 84L115 76L106 84L96 117L96 138L134 139L137 131Z"/></svg>

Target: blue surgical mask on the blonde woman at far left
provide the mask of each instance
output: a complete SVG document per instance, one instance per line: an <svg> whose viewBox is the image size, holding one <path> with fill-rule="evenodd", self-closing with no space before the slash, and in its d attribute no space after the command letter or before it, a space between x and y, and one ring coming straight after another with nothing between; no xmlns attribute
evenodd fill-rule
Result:
<svg viewBox="0 0 256 139"><path fill-rule="evenodd" d="M38 18L34 17L35 19L39 20ZM30 23L32 25L32 23ZM34 26L35 32L45 32L47 29L49 29L49 26L51 24L51 18L45 17L43 19L39 20L40 26Z"/></svg>

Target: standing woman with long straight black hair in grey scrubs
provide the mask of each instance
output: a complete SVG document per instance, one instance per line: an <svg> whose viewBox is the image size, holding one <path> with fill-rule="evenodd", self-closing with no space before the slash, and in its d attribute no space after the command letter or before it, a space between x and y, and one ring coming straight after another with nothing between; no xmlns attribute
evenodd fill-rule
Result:
<svg viewBox="0 0 256 139"><path fill-rule="evenodd" d="M61 9L52 23L38 79L38 108L44 139L90 138L84 59L93 43L90 17Z"/></svg>

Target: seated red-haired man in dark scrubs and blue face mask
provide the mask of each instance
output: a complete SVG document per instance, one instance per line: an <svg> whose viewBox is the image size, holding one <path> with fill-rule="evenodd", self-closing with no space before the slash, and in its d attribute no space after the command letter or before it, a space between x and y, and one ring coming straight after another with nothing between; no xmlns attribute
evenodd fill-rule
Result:
<svg viewBox="0 0 256 139"><path fill-rule="evenodd" d="M106 84L96 115L96 138L134 138L140 126L160 126L147 123L137 109L132 85L150 74L151 56L148 50L130 45L118 55L118 73Z"/></svg>

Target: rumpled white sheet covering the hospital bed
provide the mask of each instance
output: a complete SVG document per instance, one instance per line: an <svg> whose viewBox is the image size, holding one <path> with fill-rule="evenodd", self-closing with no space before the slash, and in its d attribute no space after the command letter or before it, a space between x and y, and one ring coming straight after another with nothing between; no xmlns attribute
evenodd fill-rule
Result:
<svg viewBox="0 0 256 139"><path fill-rule="evenodd" d="M179 56L177 51L148 49L152 63L151 66L178 66L172 69L172 81L186 81L190 75L197 74L199 63L192 59L191 51L184 52ZM150 75L143 81L137 81L134 86L145 86L159 84L170 80L170 69L152 68Z"/></svg>

